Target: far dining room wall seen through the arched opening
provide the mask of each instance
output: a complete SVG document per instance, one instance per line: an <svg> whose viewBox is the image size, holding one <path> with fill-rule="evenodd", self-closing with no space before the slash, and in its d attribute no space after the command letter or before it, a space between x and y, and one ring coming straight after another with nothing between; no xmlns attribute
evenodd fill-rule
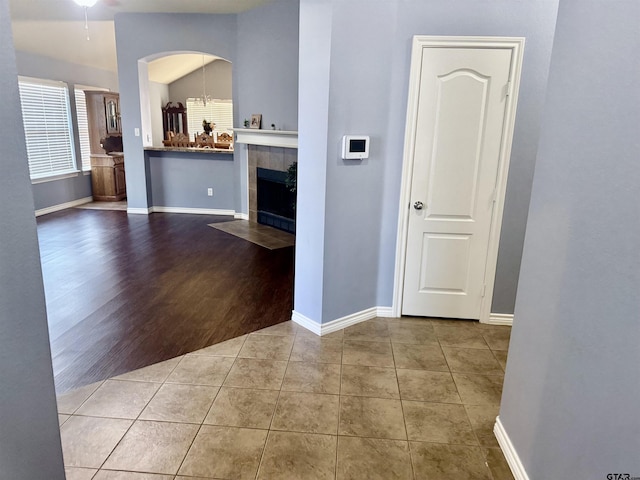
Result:
<svg viewBox="0 0 640 480"><path fill-rule="evenodd" d="M214 60L205 65L207 95L212 98L228 99L233 96L233 65L224 60ZM169 84L169 100L187 104L189 97L202 96L202 68L199 68Z"/></svg>

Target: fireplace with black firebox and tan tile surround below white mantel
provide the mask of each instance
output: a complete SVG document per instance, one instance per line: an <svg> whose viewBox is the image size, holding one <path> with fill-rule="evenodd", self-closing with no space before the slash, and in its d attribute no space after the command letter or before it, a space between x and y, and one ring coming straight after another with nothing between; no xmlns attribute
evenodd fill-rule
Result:
<svg viewBox="0 0 640 480"><path fill-rule="evenodd" d="M249 145L249 220L295 233L295 195L285 184L294 148Z"/></svg>

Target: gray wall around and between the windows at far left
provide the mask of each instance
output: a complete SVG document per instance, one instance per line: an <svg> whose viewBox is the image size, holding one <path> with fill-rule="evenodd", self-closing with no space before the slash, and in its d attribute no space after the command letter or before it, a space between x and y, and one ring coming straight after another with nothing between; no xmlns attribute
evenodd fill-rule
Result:
<svg viewBox="0 0 640 480"><path fill-rule="evenodd" d="M115 72L85 67L55 60L28 52L16 52L18 74L27 77L44 78L66 82L69 88L71 118L74 129L76 160L80 164L80 140L76 123L74 85L108 88L118 91L118 76ZM91 196L91 176L82 172L73 178L64 178L33 185L36 210L72 202Z"/></svg>

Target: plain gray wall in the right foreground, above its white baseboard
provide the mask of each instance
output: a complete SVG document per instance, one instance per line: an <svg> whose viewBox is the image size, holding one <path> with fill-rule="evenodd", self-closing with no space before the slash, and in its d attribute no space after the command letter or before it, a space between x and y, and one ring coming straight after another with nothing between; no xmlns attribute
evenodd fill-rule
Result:
<svg viewBox="0 0 640 480"><path fill-rule="evenodd" d="M638 18L560 3L500 410L532 480L640 476Z"/></svg>

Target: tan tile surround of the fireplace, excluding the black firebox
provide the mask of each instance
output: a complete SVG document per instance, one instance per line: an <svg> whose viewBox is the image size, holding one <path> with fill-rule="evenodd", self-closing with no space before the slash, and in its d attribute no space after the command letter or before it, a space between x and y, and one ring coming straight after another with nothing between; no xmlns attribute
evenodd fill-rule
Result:
<svg viewBox="0 0 640 480"><path fill-rule="evenodd" d="M286 172L298 160L296 148L248 145L249 157L249 220L258 221L257 168Z"/></svg>

